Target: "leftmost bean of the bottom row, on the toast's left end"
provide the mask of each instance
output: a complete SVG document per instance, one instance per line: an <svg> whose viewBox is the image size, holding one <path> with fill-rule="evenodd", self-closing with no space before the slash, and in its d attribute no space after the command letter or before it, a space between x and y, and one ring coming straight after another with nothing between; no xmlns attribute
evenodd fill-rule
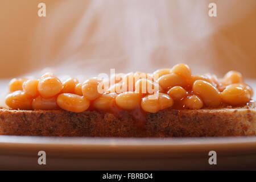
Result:
<svg viewBox="0 0 256 182"><path fill-rule="evenodd" d="M5 98L5 103L11 109L31 110L32 97L22 90L16 90Z"/></svg>

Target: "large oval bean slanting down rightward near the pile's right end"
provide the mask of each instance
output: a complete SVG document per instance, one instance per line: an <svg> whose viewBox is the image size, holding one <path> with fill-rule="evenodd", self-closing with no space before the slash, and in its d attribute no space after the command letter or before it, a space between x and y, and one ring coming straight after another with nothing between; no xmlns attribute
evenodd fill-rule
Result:
<svg viewBox="0 0 256 182"><path fill-rule="evenodd" d="M217 107L221 104L220 92L207 81L196 80L192 86L192 91L203 99L206 106Z"/></svg>

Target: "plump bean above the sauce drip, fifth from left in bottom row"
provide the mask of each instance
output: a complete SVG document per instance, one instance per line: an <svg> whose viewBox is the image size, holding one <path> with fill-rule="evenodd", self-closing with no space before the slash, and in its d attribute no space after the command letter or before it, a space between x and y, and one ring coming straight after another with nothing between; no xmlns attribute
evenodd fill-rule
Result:
<svg viewBox="0 0 256 182"><path fill-rule="evenodd" d="M123 92L115 97L115 102L125 110L132 110L141 104L141 94L134 92Z"/></svg>

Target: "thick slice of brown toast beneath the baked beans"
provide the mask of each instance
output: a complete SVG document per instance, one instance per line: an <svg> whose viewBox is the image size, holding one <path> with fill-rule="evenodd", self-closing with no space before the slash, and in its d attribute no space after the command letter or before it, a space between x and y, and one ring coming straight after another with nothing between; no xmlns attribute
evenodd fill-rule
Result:
<svg viewBox="0 0 256 182"><path fill-rule="evenodd" d="M72 137L223 137L255 136L256 109L165 109L147 113L146 123L138 127L131 115L125 117L103 111L72 113L65 110L0 109L1 135Z"/></svg>

